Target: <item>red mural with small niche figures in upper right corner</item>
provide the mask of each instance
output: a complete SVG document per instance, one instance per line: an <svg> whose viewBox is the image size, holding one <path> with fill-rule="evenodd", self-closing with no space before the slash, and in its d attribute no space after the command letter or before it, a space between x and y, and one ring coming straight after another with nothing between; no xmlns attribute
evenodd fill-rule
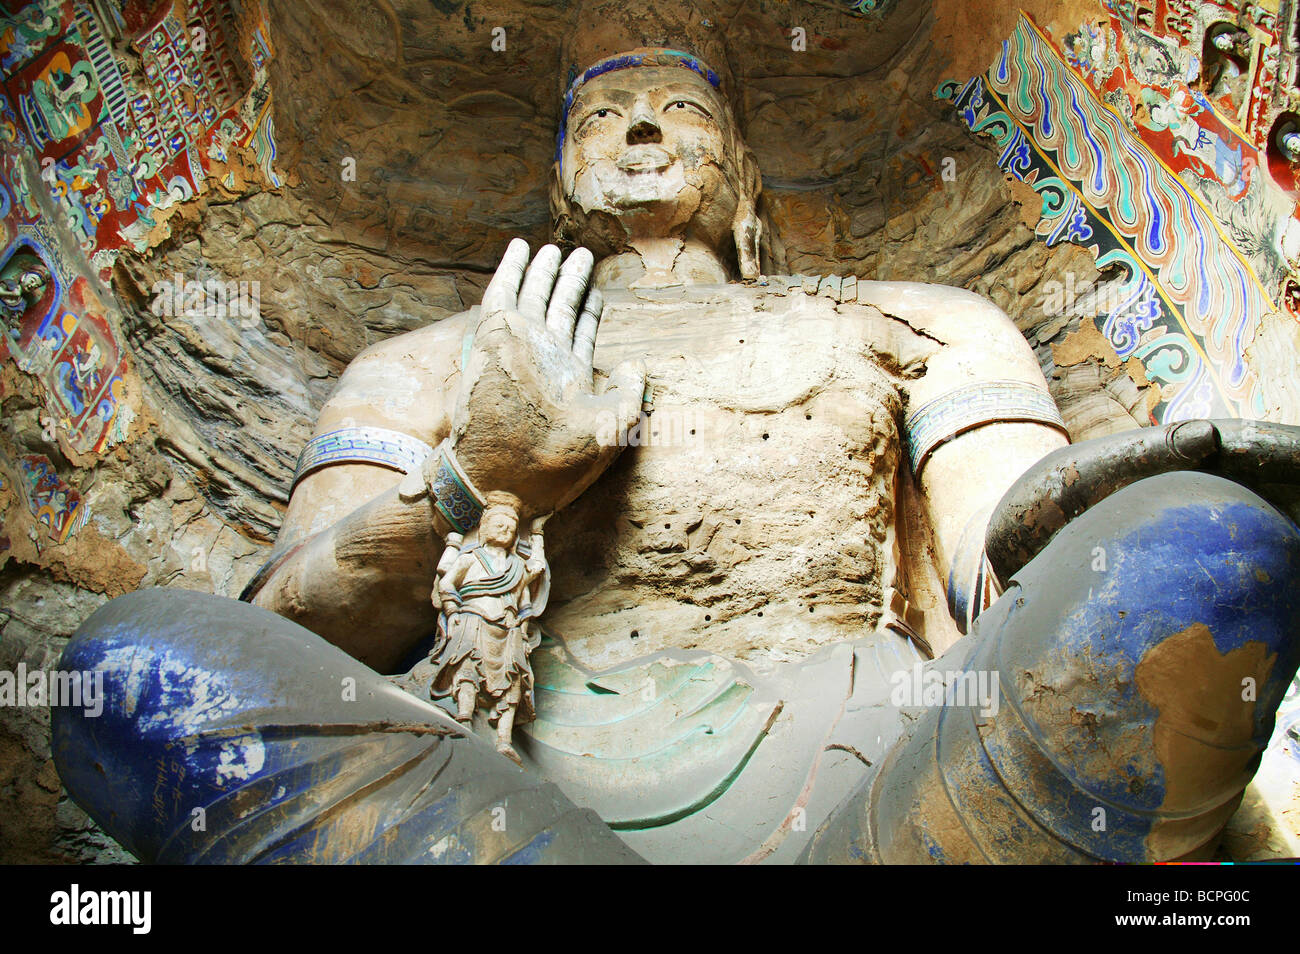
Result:
<svg viewBox="0 0 1300 954"><path fill-rule="evenodd" d="M1296 45L1295 10L1275 0L1101 8L1102 18L1063 38L1066 60L1234 234L1270 298L1300 317L1300 162L1279 146L1300 130L1295 77L1279 75L1282 51Z"/></svg>

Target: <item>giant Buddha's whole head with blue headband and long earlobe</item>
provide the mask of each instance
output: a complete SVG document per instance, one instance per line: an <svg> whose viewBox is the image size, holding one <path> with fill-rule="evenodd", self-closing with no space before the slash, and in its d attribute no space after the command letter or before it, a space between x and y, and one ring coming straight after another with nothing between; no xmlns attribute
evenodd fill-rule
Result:
<svg viewBox="0 0 1300 954"><path fill-rule="evenodd" d="M578 74L564 97L551 213L597 257L646 238L697 239L759 272L762 181L718 74L689 53L636 49Z"/></svg>

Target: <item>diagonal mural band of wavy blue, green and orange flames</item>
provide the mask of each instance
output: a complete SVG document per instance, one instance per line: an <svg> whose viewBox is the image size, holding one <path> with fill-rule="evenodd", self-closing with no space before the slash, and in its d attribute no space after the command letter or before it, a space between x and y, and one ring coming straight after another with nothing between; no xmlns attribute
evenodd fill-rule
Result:
<svg viewBox="0 0 1300 954"><path fill-rule="evenodd" d="M1152 22L1179 4L1157 6ZM1252 95L1231 83L1206 95L1167 70L1148 70L1145 86L1128 82L1134 64L1166 62L1152 52L1160 43L1115 42L1135 30L1128 21L1109 32L1084 26L1061 49L1022 16L987 74L946 82L936 95L974 133L991 135L1001 168L1039 192L1043 240L1074 242L1098 268L1121 270L1121 300L1096 322L1122 359L1136 356L1160 385L1154 421L1262 417L1244 352L1258 322L1278 311L1280 287L1265 286L1257 256L1247 253L1258 250L1243 251L1221 209L1179 177L1217 182L1227 205L1248 195L1257 149L1221 107L1235 95L1238 114L1249 116ZM1280 261L1275 244L1271 252Z"/></svg>

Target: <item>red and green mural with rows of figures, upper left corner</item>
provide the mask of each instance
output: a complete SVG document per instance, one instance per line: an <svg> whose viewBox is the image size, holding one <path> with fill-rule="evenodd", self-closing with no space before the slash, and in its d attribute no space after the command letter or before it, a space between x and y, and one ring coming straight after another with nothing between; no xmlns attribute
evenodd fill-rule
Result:
<svg viewBox="0 0 1300 954"><path fill-rule="evenodd" d="M117 251L148 246L159 212L203 191L230 143L270 136L269 94L244 108L252 78L238 65L229 4L173 0L140 13L148 6L35 0L0 32L0 138L30 148L105 281ZM260 65L270 48L255 32L243 60ZM138 69L118 62L114 39L129 40Z"/></svg>

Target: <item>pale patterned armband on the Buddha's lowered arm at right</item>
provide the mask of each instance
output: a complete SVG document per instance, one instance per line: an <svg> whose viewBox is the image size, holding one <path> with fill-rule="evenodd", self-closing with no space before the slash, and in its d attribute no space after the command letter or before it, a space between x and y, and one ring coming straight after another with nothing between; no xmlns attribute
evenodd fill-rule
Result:
<svg viewBox="0 0 1300 954"><path fill-rule="evenodd" d="M1032 421L1060 428L1065 421L1052 395L1022 381L983 381L935 398L907 415L907 456L920 469L940 445L985 424ZM1069 435L1069 434L1067 434Z"/></svg>

